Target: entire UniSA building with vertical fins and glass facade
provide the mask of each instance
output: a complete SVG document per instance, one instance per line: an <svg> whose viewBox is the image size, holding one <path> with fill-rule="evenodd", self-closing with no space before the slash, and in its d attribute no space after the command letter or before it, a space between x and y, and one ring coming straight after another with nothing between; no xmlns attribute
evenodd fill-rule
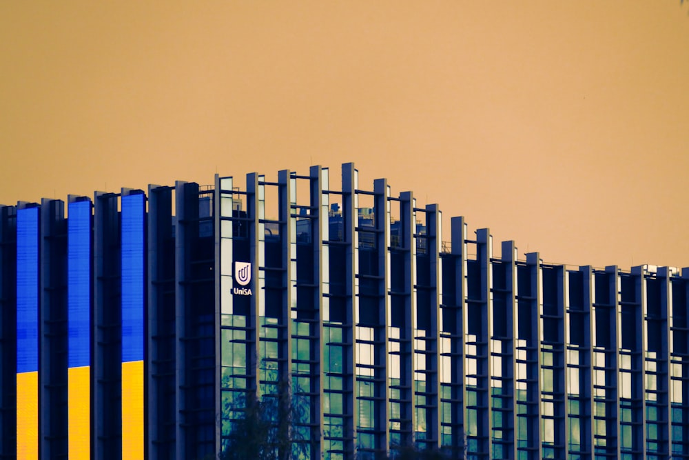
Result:
<svg viewBox="0 0 689 460"><path fill-rule="evenodd" d="M0 457L213 458L280 382L310 459L689 457L687 268L496 258L339 175L0 207Z"/></svg>

